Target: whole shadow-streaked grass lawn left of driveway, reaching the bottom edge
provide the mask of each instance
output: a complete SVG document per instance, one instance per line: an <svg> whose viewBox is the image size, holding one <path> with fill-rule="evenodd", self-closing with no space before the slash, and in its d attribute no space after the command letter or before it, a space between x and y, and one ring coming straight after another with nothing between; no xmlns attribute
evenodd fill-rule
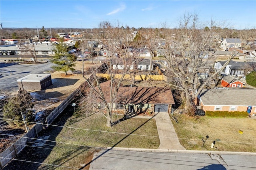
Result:
<svg viewBox="0 0 256 170"><path fill-rule="evenodd" d="M120 118L121 115L114 115L114 121ZM64 128L55 138L56 141L64 143L55 144L44 160L46 164L82 168L90 162L94 152L101 148L108 146L158 148L160 145L154 119L127 119L108 128L106 118L101 114L87 116L76 113L65 122ZM55 167L41 165L38 169L52 168ZM87 166L84 169L88 168ZM58 167L58 169L66 168Z"/></svg>

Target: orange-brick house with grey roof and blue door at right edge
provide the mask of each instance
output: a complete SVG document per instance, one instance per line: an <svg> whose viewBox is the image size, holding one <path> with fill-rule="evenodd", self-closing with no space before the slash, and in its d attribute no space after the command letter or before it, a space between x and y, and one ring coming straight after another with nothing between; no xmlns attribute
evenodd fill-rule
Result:
<svg viewBox="0 0 256 170"><path fill-rule="evenodd" d="M256 113L256 89L217 88L204 89L198 95L204 111L247 111Z"/></svg>

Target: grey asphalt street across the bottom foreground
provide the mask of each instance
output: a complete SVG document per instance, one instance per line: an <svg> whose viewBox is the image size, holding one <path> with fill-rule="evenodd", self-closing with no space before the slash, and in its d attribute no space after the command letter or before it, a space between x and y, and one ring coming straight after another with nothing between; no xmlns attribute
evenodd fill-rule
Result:
<svg viewBox="0 0 256 170"><path fill-rule="evenodd" d="M90 170L255 170L256 156L102 150Z"/></svg>

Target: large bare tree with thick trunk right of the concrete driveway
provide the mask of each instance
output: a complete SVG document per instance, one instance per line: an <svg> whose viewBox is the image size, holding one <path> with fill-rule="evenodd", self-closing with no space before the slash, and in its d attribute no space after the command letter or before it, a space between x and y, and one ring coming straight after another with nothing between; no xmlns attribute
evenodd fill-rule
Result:
<svg viewBox="0 0 256 170"><path fill-rule="evenodd" d="M213 72L214 58L208 53L216 34L214 30L204 30L197 14L185 13L179 20L179 28L172 33L166 29L166 45L162 45L168 63L166 76L168 84L182 91L181 97L186 112L194 115L195 100L202 89L207 87L218 73ZM226 62L228 62L235 56Z"/></svg>

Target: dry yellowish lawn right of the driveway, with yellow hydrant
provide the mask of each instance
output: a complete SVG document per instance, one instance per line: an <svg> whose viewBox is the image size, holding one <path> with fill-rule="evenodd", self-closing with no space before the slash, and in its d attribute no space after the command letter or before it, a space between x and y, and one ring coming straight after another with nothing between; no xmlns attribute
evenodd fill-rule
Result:
<svg viewBox="0 0 256 170"><path fill-rule="evenodd" d="M187 115L178 115L178 121L178 124L173 121L174 128L180 143L188 150L256 152L255 119L191 118ZM240 134L239 130L242 130L243 134ZM205 139L206 135L209 138L202 148L202 138ZM214 140L216 148L211 148Z"/></svg>

